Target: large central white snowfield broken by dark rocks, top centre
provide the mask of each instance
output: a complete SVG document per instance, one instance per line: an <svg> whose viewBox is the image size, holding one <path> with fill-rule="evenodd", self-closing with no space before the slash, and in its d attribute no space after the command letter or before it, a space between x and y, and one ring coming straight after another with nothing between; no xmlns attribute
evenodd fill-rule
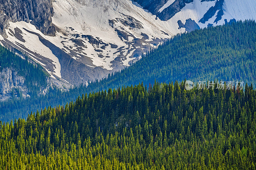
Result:
<svg viewBox="0 0 256 170"><path fill-rule="evenodd" d="M115 28L112 28L108 21L115 18L124 18L124 15L132 16L133 18L139 20L143 29L130 29L129 27L124 27L121 23L116 23L116 27L123 27L127 32L132 33L136 38L142 38L141 32L148 35L154 35L158 38L169 38L170 36L163 35L160 29L168 34L172 35L172 32L168 31L168 25L165 21L156 20L156 16L145 12L139 7L139 5L134 5L130 0L82 0L80 3L74 0L56 0L53 3L54 16L52 17L52 22L57 25L62 31L66 31L67 27L72 27L74 30L69 32L81 33L84 35L91 35L94 38L100 37L100 39L105 43L116 44L119 47L124 46L128 48L124 41L122 41ZM123 13L123 14L122 14ZM160 29L159 29L160 28ZM68 39L69 39L68 35ZM129 41L133 38L129 36ZM83 39L87 48L83 51L87 54L89 58L92 59L92 64L95 66L100 66L108 70L112 70L110 63L114 60L120 53L116 53L116 49L111 49L110 45L106 46L102 53L95 52L95 46L92 46L88 40ZM67 41L67 40L66 40ZM98 54L103 56L110 56L109 58L100 58ZM128 53L128 50L124 52L124 55L131 56L132 53ZM131 60L127 57L128 64Z"/></svg>

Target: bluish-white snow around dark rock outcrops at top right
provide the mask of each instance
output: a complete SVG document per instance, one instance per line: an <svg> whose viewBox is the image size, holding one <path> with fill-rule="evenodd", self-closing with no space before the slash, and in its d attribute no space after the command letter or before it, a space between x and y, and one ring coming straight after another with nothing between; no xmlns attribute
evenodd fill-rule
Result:
<svg viewBox="0 0 256 170"><path fill-rule="evenodd" d="M224 15L218 23L213 23L216 19L218 11L216 11L215 15L206 21L205 24L200 23L199 20L204 17L204 14L216 3L215 1L204 1L194 0L194 2L186 4L184 8L181 9L180 12L176 13L171 19L167 21L168 25L170 25L170 31L174 34L184 32L185 29L181 28L177 30L178 24L177 21L181 20L183 24L185 24L186 19L191 18L195 20L195 22L199 25L200 28L207 27L208 24L222 25L225 23L225 19L229 22L230 19L235 18L237 20L245 20L245 19L256 19L256 2L255 0L225 0L223 4Z"/></svg>

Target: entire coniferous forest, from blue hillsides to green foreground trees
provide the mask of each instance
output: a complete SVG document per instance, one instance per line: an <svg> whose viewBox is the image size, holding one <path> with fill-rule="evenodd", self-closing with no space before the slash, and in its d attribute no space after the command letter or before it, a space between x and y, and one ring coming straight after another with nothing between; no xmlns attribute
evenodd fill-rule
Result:
<svg viewBox="0 0 256 170"><path fill-rule="evenodd" d="M255 21L209 27L88 86L1 102L0 170L255 170L255 49ZM23 63L44 85L41 67L0 51L1 66ZM249 85L186 90L186 79Z"/></svg>

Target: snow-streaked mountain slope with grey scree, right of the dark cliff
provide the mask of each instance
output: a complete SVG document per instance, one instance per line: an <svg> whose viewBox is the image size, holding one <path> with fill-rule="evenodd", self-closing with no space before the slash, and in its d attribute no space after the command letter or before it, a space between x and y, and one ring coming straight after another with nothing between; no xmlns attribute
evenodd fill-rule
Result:
<svg viewBox="0 0 256 170"><path fill-rule="evenodd" d="M56 36L20 21L10 22L8 37L0 41L26 52L52 77L71 84L85 84L129 66L172 35L166 22L129 0L56 0L53 10Z"/></svg>

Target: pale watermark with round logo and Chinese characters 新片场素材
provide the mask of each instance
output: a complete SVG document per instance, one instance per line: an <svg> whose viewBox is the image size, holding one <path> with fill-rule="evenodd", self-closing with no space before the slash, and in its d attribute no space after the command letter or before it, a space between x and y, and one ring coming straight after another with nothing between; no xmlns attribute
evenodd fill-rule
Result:
<svg viewBox="0 0 256 170"><path fill-rule="evenodd" d="M191 90L195 87L195 83L190 80L186 80L185 89ZM196 83L196 89L244 89L244 81L198 81Z"/></svg>

